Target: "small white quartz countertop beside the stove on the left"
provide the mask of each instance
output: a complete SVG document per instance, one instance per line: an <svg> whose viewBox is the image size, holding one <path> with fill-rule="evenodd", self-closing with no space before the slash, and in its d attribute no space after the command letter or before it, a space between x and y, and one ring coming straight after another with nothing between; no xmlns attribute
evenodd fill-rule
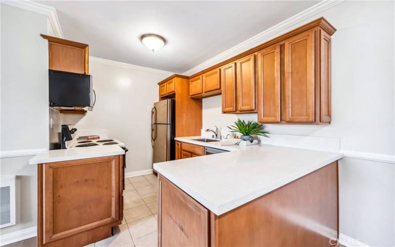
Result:
<svg viewBox="0 0 395 247"><path fill-rule="evenodd" d="M123 154L125 154L125 151L117 145L47 150L30 159L29 164L35 165Z"/></svg>

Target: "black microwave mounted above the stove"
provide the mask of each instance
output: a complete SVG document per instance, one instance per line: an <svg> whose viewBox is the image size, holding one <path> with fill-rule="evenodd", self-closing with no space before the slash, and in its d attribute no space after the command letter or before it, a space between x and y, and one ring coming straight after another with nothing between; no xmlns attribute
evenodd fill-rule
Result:
<svg viewBox="0 0 395 247"><path fill-rule="evenodd" d="M49 106L93 107L92 76L49 70Z"/></svg>

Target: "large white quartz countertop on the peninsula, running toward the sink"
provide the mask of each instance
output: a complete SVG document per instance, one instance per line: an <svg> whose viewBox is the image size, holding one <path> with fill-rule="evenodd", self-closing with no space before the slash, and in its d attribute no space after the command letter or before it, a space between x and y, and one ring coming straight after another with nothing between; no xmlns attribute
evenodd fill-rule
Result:
<svg viewBox="0 0 395 247"><path fill-rule="evenodd" d="M154 169L217 215L263 196L343 157L307 149L257 144L224 146L176 138L231 152L154 164Z"/></svg>

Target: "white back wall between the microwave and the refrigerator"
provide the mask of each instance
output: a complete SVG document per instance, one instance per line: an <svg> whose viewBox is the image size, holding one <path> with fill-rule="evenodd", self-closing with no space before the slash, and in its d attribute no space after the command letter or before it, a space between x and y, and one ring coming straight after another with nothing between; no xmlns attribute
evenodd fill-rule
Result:
<svg viewBox="0 0 395 247"><path fill-rule="evenodd" d="M157 83L170 74L94 59L89 61L89 73L97 96L93 111L85 117L64 116L64 124L107 130L108 137L125 143L129 149L125 172L152 169L151 109L158 101Z"/></svg>

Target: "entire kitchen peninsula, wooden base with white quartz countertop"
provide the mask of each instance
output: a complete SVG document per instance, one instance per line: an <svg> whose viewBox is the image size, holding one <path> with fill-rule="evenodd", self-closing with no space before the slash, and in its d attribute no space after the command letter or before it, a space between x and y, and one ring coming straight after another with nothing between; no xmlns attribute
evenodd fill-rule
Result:
<svg viewBox="0 0 395 247"><path fill-rule="evenodd" d="M159 246L331 246L339 153L271 145L154 164ZM277 237L275 237L277 236Z"/></svg>

